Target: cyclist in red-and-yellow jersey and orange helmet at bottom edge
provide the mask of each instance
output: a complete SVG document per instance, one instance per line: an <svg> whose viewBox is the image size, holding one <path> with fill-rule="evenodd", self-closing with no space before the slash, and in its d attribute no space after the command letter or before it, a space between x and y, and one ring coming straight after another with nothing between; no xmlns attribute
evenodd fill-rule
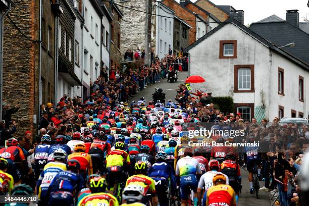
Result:
<svg viewBox="0 0 309 206"><path fill-rule="evenodd" d="M206 205L236 206L235 192L226 184L226 177L217 174L213 179L214 186L207 191Z"/></svg>

